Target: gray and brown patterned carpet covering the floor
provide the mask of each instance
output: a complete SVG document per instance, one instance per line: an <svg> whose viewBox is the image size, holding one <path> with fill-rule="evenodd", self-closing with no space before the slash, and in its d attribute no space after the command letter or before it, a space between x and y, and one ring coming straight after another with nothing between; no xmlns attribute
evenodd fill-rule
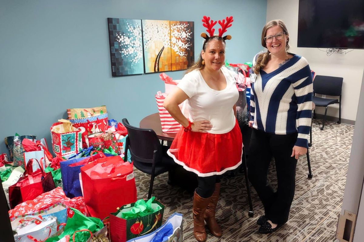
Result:
<svg viewBox="0 0 364 242"><path fill-rule="evenodd" d="M217 207L217 220L223 230L216 238L207 230L207 241L249 242L333 242L337 218L341 211L348 161L351 152L354 126L327 122L320 130L321 120L313 120L312 147L309 148L313 178L307 179L306 156L297 164L296 194L288 223L270 235L257 233L256 220L263 215L263 206L252 189L254 217L248 217L248 197L244 174L222 177L221 198ZM276 186L274 162L269 180ZM146 198L150 176L135 170L138 199ZM167 173L154 181L153 196L165 204L163 222L174 212L183 214L183 241L196 241L193 236L193 194L167 184Z"/></svg>

